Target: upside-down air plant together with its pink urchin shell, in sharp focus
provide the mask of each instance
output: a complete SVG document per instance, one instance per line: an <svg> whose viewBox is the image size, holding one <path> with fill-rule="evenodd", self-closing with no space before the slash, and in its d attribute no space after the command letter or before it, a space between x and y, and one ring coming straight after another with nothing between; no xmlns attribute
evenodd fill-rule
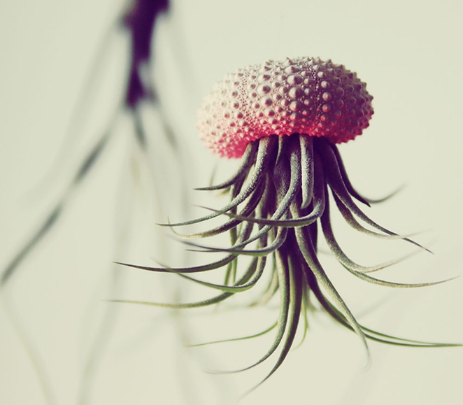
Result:
<svg viewBox="0 0 463 405"><path fill-rule="evenodd" d="M192 225L224 215L227 220L222 225L183 237L207 238L229 232L231 247L218 249L187 242L202 250L223 252L225 257L198 267L133 267L175 272L222 292L190 304L160 305L196 308L217 304L249 290L266 271L271 272L265 278L268 285L260 302L268 302L279 291L276 337L262 358L250 366L264 362L280 347L269 376L285 359L301 314L305 318L313 301L318 301L336 322L356 332L365 346L366 338L401 346L443 346L399 339L359 325L318 259L320 224L332 254L354 276L390 287L433 284L391 283L371 276L371 272L401 259L373 267L356 264L343 253L332 230L329 208L334 201L346 222L357 231L379 238L404 239L421 248L411 239L373 222L361 211L355 200L367 206L373 201L354 190L336 147L369 126L372 99L356 73L331 60L323 62L310 57L248 66L215 85L199 111L201 139L221 157L241 158L241 164L225 182L200 190L228 190L230 201L201 218L169 226ZM245 255L252 258L241 269L238 261ZM190 276L222 267L223 285Z"/></svg>

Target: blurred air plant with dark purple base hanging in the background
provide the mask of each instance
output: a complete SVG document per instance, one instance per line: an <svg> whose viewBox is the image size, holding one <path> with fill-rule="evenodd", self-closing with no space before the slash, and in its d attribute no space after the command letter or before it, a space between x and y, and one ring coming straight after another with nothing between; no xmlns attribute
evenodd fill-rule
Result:
<svg viewBox="0 0 463 405"><path fill-rule="evenodd" d="M78 106L75 108L73 120L71 120L71 131L69 135L75 136L77 134L76 129L73 125L77 125L77 122L83 119L83 106L85 106L87 92L92 90L92 80L96 77L96 70L101 66L101 55L104 55L105 48L110 44L110 40L114 40L120 31L124 35L129 36L131 40L131 55L129 62L129 71L127 72L127 77L124 78L122 83L120 83L124 94L117 104L117 108L113 111L111 117L111 122L108 122L108 126L102 134L98 134L97 140L94 142L92 148L87 152L87 155L83 157L75 173L69 180L69 184L66 187L65 192L62 194L62 197L57 201L55 206L52 208L50 213L45 217L45 220L41 225L36 229L34 233L31 234L29 239L24 243L24 246L17 250L17 253L6 265L5 269L0 271L0 294L3 293L3 290L8 287L10 281L13 280L15 274L18 273L22 264L29 257L31 252L37 248L39 243L45 239L45 237L50 233L50 231L55 227L62 213L67 208L69 202L71 201L74 193L78 190L84 180L86 180L90 173L92 173L97 162L101 159L104 152L108 150L108 144L111 139L114 137L114 127L117 123L117 118L122 115L122 113L127 112L131 118L134 125L134 137L136 141L136 147L142 150L145 153L146 159L148 159L148 152L150 151L150 144L148 142L148 137L145 134L144 123L142 118L142 109L146 105L152 108L153 111L159 112L159 120L161 121L161 133L162 136L165 136L168 144L173 149L174 155L177 157L178 149L176 145L175 136L173 136L173 131L167 122L164 111L162 109L162 103L159 97L157 96L157 90L154 83L150 80L150 77L147 76L148 69L152 67L152 64L155 62L155 55L153 53L152 41L154 39L154 29L155 24L160 15L169 13L169 0L136 0L129 1L124 13L122 15L117 15L117 19L112 22L111 26L108 27L106 35L104 36L104 41L101 43L99 48L99 54L94 59L94 66L90 71L87 83L83 86L83 92L80 94L80 99L78 100ZM85 118L85 117L84 117ZM70 137L71 138L71 137ZM68 139L68 141L72 141ZM68 144L66 144L68 145ZM69 145L68 145L69 146ZM56 169L56 168L55 168ZM112 280L113 286L116 283L115 278ZM10 304L8 303L6 297L2 295L3 304L6 308L6 311L10 312ZM47 400L48 404L55 402L53 399L53 390L48 381L45 381L45 367L41 365L38 355L32 349L31 339L26 335L26 332L22 330L22 327L17 324L15 315L10 315L10 322L13 324L17 336L20 341L24 344L24 349L29 355L29 360L33 365L39 383L41 383L41 388L43 394ZM84 376L81 381L80 392L78 393L79 403L84 403L87 401L88 390L90 385L90 380L92 379L95 365L99 361L101 348L103 346L104 340L108 336L106 333L111 325L114 322L114 309L105 313L104 320L99 325L99 331L97 338L94 341L89 355L86 359Z"/></svg>

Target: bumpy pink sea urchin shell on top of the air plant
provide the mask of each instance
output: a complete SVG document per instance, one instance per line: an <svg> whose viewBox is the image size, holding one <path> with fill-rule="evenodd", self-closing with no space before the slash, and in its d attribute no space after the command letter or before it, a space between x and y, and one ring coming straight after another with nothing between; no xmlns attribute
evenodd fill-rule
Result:
<svg viewBox="0 0 463 405"><path fill-rule="evenodd" d="M207 147L226 157L241 157L248 143L273 134L343 143L369 126L373 97L365 87L331 60L270 60L217 83L204 98L197 127Z"/></svg>

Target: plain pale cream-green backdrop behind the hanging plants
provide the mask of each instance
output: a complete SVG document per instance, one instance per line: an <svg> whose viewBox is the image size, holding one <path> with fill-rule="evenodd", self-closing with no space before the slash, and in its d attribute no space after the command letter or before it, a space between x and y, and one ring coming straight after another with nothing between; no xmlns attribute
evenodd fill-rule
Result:
<svg viewBox="0 0 463 405"><path fill-rule="evenodd" d="M366 212L397 232L426 231L416 239L435 253L420 253L385 271L383 277L424 282L462 275L460 1L172 3L171 17L159 24L154 73L166 114L183 145L190 188L206 184L217 162L202 148L194 128L201 97L215 81L238 67L266 59L331 58L357 71L374 96L371 127L362 138L341 147L352 180L371 197L406 185L397 197ZM52 162L62 153L85 75L92 60L101 55L99 44L122 6L120 1L108 0L1 3L1 267L64 190L120 98L127 64L127 38L121 34L113 36L101 58L104 65L85 102L88 108L80 115L78 141L64 151L52 179L41 183L56 167ZM152 128L151 141L159 145L155 123ZM117 269L111 261L150 264L152 257L164 257L175 265L182 260L182 246L169 240L166 248L153 232L154 222L165 220L168 213L180 217L176 203L182 197L173 186L176 163L159 147L150 156L157 189L164 196L164 211L159 212L148 166L140 163L142 156L131 141L127 115L117 121L115 134L104 159L73 195L59 226L3 292L31 338L55 403L60 405L79 403L83 367L101 311L108 305L102 301L117 295L108 289L110 275ZM226 175L235 164L226 162L220 173ZM134 197L131 218L129 196ZM190 197L190 204L217 206L208 194ZM199 212L193 210L191 215ZM336 218L334 222L336 226ZM124 228L128 223L131 227ZM341 222L336 230L346 250L365 264L413 250L405 243L372 243ZM463 342L461 278L424 290L391 291L352 280L331 258L325 256L325 261L354 313L361 315L380 304L361 318L367 325L412 339ZM118 297L127 299L165 301L178 281L120 268L117 274ZM180 291L185 293L183 288ZM211 378L201 373L201 367L243 367L264 353L269 339L188 355L180 349L176 322L165 311L141 306L119 309L119 321L104 343L90 396L80 403L231 404L269 370L267 364L245 374ZM191 322L191 339L257 332L274 316L273 311L227 313L222 320L217 315L213 320L197 316ZM0 324L0 404L45 404L4 307ZM311 318L311 327L304 344L290 353L278 373L241 404L462 401L461 348L371 344L372 364L366 369L364 350L354 334L334 327L321 315Z"/></svg>

